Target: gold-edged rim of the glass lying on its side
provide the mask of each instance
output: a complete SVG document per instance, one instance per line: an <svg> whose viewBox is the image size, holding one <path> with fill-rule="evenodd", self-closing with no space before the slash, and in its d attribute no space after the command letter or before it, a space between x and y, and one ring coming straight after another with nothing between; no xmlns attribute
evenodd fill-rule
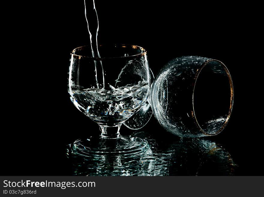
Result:
<svg viewBox="0 0 264 197"><path fill-rule="evenodd" d="M228 111L228 115L226 117L226 120L225 122L223 123L223 126L217 131L217 132L214 132L214 133L208 133L208 132L205 132L202 127L199 125L199 122L196 118L196 115L195 115L195 110L194 110L194 100L192 100L192 105L193 105L193 117L195 119L195 123L196 125L199 127L200 131L204 134L204 135L207 135L207 136L213 136L213 135L217 135L219 134L220 132L223 131L223 129L225 128L226 124L228 123L229 121L229 118L230 118L230 115L231 115L231 112L232 112L232 109L233 109L233 103L234 103L234 87L233 87L233 82L232 82L232 78L231 78L231 75L228 71L228 69L226 68L226 66L223 64L223 62L220 62L219 60L217 59L209 59L208 61L204 62L202 64L202 67L201 69L199 70L198 74L196 75L195 77L195 83L194 83L194 87L193 87L193 92L192 92L192 96L194 95L194 89L195 89L195 85L196 85L196 81L197 81L197 78L199 77L199 74L201 73L202 69L210 62L218 62L220 63L220 65L223 67L224 71L226 72L227 74L227 77L228 77L228 80L229 80L229 85L230 85L230 105L229 105L229 111Z"/></svg>

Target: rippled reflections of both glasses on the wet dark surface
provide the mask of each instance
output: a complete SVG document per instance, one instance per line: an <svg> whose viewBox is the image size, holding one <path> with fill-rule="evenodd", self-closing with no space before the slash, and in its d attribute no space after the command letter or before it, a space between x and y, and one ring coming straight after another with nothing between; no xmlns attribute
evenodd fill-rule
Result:
<svg viewBox="0 0 264 197"><path fill-rule="evenodd" d="M221 145L200 138L155 141L146 132L133 136L145 138L150 147L136 155L102 154L81 157L68 152L73 175L160 176L160 175L234 175L231 155ZM69 149L71 151L71 149Z"/></svg>

